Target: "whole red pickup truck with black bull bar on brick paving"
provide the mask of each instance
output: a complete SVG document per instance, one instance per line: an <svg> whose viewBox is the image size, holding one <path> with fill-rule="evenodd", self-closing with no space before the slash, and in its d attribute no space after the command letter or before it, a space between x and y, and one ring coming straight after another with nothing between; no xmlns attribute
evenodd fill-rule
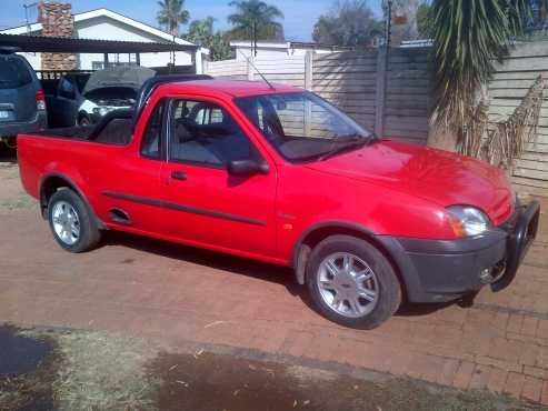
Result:
<svg viewBox="0 0 548 411"><path fill-rule="evenodd" d="M262 82L153 78L96 128L19 136L19 162L68 251L121 230L292 267L319 312L361 329L402 299L504 289L539 220L494 167Z"/></svg>

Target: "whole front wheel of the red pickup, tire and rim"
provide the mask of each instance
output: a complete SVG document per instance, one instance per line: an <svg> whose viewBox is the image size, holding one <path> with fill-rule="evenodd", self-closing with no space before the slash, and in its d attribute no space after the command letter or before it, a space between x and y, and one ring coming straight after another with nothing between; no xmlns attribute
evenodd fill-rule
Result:
<svg viewBox="0 0 548 411"><path fill-rule="evenodd" d="M401 288L386 257L350 235L321 241L310 254L307 285L318 311L351 328L370 330L401 303Z"/></svg>

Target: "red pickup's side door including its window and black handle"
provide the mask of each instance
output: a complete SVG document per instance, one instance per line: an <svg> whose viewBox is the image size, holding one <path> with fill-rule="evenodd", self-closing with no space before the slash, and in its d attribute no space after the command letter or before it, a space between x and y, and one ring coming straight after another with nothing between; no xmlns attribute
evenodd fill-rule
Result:
<svg viewBox="0 0 548 411"><path fill-rule="evenodd" d="M275 255L277 174L233 176L233 160L267 159L220 102L172 100L168 161L162 167L166 227L196 244L246 254Z"/></svg>

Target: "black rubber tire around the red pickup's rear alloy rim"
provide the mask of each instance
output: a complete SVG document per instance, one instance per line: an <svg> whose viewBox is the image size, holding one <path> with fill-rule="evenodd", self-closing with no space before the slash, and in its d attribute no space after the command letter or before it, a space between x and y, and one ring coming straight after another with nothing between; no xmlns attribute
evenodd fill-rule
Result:
<svg viewBox="0 0 548 411"><path fill-rule="evenodd" d="M76 242L72 244L63 241L56 232L53 225L53 210L56 204L61 201L70 204L78 215L80 233L78 235L78 240L76 240ZM78 196L69 188L62 188L58 190L53 196L51 196L48 203L48 220L51 232L53 233L53 238L59 243L59 245L61 245L67 251L74 253L90 251L94 249L101 240L101 232L99 231L96 219L89 210L88 206L82 201L80 196Z"/></svg>

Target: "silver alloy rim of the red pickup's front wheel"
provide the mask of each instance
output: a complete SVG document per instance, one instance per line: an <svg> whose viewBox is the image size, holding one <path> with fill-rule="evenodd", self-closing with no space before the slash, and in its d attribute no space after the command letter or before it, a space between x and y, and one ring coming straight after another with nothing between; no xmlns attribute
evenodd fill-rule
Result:
<svg viewBox="0 0 548 411"><path fill-rule="evenodd" d="M323 302L347 318L369 314L379 300L379 282L373 270L348 252L328 255L319 267L317 284Z"/></svg>

